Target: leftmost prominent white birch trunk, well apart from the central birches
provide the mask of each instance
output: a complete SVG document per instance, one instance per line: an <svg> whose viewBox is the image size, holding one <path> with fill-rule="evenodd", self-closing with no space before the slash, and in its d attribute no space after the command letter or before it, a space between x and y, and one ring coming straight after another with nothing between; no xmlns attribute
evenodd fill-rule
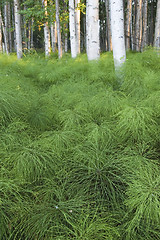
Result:
<svg viewBox="0 0 160 240"><path fill-rule="evenodd" d="M20 10L19 0L14 0L16 49L18 59L22 57L21 17L19 14L19 10Z"/></svg>

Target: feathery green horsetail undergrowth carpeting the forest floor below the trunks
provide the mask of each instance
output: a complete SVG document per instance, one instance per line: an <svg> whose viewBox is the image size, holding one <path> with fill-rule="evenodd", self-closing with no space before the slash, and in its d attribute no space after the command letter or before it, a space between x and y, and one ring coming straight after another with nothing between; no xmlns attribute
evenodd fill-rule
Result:
<svg viewBox="0 0 160 240"><path fill-rule="evenodd" d="M0 239L160 239L160 58L0 56Z"/></svg>

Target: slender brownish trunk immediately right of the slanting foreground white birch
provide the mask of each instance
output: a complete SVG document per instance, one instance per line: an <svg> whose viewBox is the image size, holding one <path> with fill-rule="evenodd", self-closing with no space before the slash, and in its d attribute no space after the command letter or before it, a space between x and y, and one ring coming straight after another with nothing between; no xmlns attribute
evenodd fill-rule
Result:
<svg viewBox="0 0 160 240"><path fill-rule="evenodd" d="M127 13L126 13L126 27L125 27L126 49L130 48L131 18L132 18L132 0L128 0L128 2L127 2Z"/></svg>

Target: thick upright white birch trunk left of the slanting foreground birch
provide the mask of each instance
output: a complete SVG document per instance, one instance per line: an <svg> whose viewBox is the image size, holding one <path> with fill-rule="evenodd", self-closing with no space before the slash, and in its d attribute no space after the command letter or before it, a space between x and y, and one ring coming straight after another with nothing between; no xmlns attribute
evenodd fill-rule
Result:
<svg viewBox="0 0 160 240"><path fill-rule="evenodd" d="M89 61L98 60L100 57L99 0L88 0L87 8L87 56Z"/></svg>

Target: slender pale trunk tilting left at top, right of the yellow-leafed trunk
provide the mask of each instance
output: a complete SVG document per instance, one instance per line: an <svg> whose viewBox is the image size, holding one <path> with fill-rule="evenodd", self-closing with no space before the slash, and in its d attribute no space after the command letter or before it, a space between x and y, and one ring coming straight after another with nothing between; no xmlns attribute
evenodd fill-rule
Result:
<svg viewBox="0 0 160 240"><path fill-rule="evenodd" d="M56 22L57 22L57 36L58 36L58 57L62 57L62 41L61 41L61 26L59 19L59 1L56 0Z"/></svg>

